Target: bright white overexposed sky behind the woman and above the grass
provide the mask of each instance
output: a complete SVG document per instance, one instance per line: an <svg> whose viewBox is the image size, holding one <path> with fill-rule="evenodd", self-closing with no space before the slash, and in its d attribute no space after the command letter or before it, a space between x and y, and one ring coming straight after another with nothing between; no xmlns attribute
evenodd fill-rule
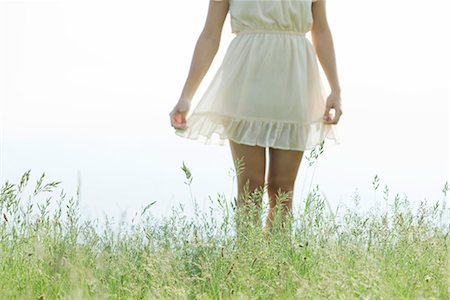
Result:
<svg viewBox="0 0 450 300"><path fill-rule="evenodd" d="M341 144L302 163L294 207L316 185L332 207L443 199L450 182L450 4L327 1L341 84ZM88 217L167 216L236 196L231 152L183 139L169 112L208 1L0 1L0 184L45 172ZM310 34L307 35L310 38ZM230 16L193 109L234 38ZM323 71L322 80L329 91ZM308 155L307 152L305 152ZM191 170L189 187L181 169ZM374 191L372 180L380 178ZM267 195L264 201L267 202ZM448 201L448 198L447 198Z"/></svg>

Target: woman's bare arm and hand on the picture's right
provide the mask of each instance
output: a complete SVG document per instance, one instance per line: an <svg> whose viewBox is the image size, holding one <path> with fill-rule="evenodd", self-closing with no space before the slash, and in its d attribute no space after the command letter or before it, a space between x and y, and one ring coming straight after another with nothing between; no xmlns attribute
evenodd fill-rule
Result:
<svg viewBox="0 0 450 300"><path fill-rule="evenodd" d="M331 87L331 94L327 98L323 119L327 124L337 124L342 115L341 87L337 75L333 37L327 21L326 0L317 0L313 2L312 14L312 43ZM331 119L329 115L331 108L334 108L335 110L333 119Z"/></svg>

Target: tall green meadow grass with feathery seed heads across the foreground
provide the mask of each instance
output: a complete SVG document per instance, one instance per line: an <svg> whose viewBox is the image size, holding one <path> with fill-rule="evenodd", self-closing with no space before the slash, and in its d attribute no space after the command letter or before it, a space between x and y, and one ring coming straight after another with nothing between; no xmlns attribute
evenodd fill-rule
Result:
<svg viewBox="0 0 450 300"><path fill-rule="evenodd" d="M150 203L138 221L100 222L83 220L78 193L57 195L45 173L26 197L29 176L0 192L2 299L450 298L448 183L416 211L385 186L384 210L343 215L316 186L292 230L276 221L266 235L249 223L236 239L236 207L223 195L194 218L180 205L157 221Z"/></svg>

